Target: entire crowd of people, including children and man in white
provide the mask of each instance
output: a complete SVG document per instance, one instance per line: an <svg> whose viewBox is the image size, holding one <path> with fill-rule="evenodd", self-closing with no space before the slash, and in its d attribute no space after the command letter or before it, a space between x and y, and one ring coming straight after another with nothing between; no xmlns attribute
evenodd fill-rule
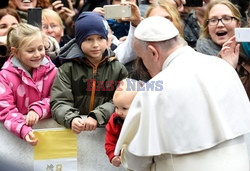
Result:
<svg viewBox="0 0 250 171"><path fill-rule="evenodd" d="M76 134L105 126L116 167L249 171L250 40L237 42L234 30L250 29L250 2L5 2L0 121L8 131L34 146L41 119ZM131 16L105 19L107 4L129 5ZM41 28L27 24L29 8L42 9Z"/></svg>

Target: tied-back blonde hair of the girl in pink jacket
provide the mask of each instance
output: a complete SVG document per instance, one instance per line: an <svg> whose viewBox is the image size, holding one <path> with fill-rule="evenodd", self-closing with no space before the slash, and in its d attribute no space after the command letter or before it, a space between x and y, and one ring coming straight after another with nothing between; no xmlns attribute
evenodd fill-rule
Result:
<svg viewBox="0 0 250 171"><path fill-rule="evenodd" d="M7 46L10 50L11 47L22 49L28 44L42 36L42 31L35 26L26 23L20 23L17 26L11 27L7 34Z"/></svg>

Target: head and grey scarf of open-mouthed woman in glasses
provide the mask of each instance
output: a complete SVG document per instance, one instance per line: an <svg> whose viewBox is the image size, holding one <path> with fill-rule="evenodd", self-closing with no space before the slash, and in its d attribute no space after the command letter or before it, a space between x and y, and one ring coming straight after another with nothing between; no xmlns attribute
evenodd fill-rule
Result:
<svg viewBox="0 0 250 171"><path fill-rule="evenodd" d="M240 26L241 14L233 3L228 0L211 1L196 43L197 51L217 56L222 45L234 36L234 29Z"/></svg>

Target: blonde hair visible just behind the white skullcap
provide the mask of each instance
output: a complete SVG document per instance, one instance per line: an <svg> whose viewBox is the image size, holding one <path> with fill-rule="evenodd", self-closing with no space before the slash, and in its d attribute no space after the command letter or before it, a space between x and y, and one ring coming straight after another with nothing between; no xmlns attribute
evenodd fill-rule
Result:
<svg viewBox="0 0 250 171"><path fill-rule="evenodd" d="M180 13L178 12L177 8L175 5L173 5L171 2L166 1L166 0L159 0L156 3L151 4L145 14L145 18L149 17L151 11L156 8L156 7L162 7L163 9L166 10L166 12L169 13L171 17L171 21L175 25L175 27L179 30L180 35L183 37L184 36L184 31L183 31L183 26L181 22L181 17Z"/></svg>

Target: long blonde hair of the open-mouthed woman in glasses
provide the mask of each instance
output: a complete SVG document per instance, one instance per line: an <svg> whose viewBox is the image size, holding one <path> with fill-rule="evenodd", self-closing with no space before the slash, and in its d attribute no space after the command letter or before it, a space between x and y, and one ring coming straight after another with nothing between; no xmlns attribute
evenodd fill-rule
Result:
<svg viewBox="0 0 250 171"><path fill-rule="evenodd" d="M201 26L200 37L205 37L205 38L210 37L209 32L208 32L209 12L217 4L223 4L223 5L227 6L230 9L230 11L232 12L233 17L238 21L238 23L241 24L241 14L240 14L240 11L239 11L239 9L238 9L238 7L236 5L234 5L229 0L213 0L213 1L210 1L209 4L206 7L205 15L204 15L204 18L203 18L203 23L202 23L202 26Z"/></svg>

